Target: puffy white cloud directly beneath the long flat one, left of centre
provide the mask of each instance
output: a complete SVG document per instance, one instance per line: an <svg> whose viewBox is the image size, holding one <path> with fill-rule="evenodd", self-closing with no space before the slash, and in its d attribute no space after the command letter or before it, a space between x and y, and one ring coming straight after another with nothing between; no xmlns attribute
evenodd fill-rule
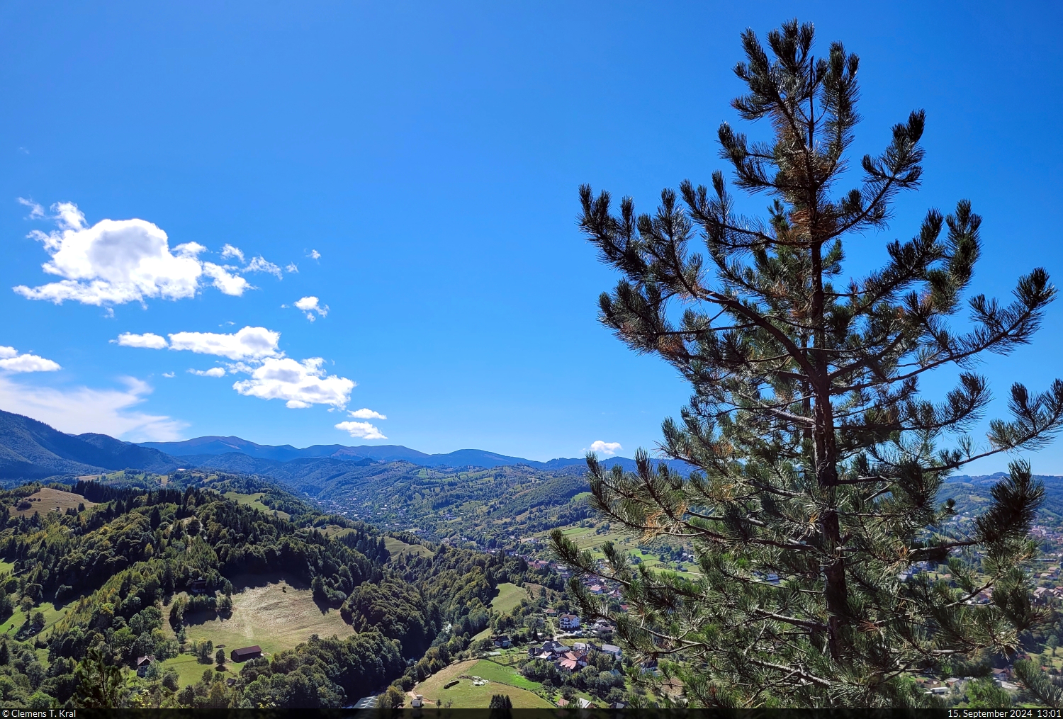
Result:
<svg viewBox="0 0 1063 719"><path fill-rule="evenodd" d="M302 362L287 357L268 358L261 366L251 371L251 379L235 382L233 389L251 397L283 399L291 409L305 409L310 405L343 409L351 399L355 382L325 374L322 364L324 360L320 357Z"/></svg>

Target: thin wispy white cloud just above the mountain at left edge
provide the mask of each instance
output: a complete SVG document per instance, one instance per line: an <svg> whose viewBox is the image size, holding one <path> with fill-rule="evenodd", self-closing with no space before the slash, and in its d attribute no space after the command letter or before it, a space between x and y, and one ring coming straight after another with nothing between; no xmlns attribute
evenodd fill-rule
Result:
<svg viewBox="0 0 1063 719"><path fill-rule="evenodd" d="M125 390L81 387L57 390L14 381L0 375L0 407L48 423L60 431L101 432L130 442L172 442L188 425L164 415L130 411L151 393L151 387L125 378Z"/></svg>

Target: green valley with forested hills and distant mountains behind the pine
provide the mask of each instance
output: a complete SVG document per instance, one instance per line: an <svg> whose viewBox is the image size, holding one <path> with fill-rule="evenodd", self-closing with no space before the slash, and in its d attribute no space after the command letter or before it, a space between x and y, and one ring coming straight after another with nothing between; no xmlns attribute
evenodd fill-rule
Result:
<svg viewBox="0 0 1063 719"><path fill-rule="evenodd" d="M643 541L595 516L581 465L426 466L335 448L285 461L172 458L103 435L78 444L0 413L4 422L18 446L0 452L0 647L18 658L0 661L0 685L6 675L22 687L0 697L4 706L78 705L79 677L112 669L124 672L115 701L130 706L342 706L372 695L470 708L497 694L514 708L672 701L632 683L632 657L603 654L619 641L614 628L562 629L579 601L549 535L559 529L592 560L610 542L632 566L691 581L704 566L690 545ZM204 446L214 445L191 448ZM26 458L40 463L19 475ZM117 466L130 459L140 466ZM955 503L946 530L968 531L998 479L949 480L939 496ZM1063 479L1041 480L1036 596L1057 602ZM956 582L945 565L922 570ZM615 583L577 588L622 610ZM1063 635L1063 624L1025 641L1063 670L1046 649L1051 631ZM568 644L546 651L553 638ZM260 655L232 658L248 647ZM111 658L92 664L98 649Z"/></svg>

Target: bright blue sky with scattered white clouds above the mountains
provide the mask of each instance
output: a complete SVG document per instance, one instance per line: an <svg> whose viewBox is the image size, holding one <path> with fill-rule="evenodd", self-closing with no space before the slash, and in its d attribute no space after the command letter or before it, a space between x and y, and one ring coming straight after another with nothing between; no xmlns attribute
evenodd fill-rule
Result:
<svg viewBox="0 0 1063 719"><path fill-rule="evenodd" d="M739 33L795 15L861 56L856 156L928 114L924 188L855 274L969 198L980 291L1063 275L1056 3L14 1L0 408L129 440L652 447L688 392L596 323L615 278L576 188L648 209L708 182ZM982 365L998 393L1063 375L1061 320Z"/></svg>

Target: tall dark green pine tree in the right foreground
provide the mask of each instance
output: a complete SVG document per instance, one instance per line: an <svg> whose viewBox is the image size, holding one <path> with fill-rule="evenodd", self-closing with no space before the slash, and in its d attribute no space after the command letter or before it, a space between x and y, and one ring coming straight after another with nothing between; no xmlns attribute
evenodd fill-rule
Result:
<svg viewBox="0 0 1063 719"><path fill-rule="evenodd" d="M580 188L581 228L624 276L602 295L601 319L690 382L659 449L695 467L684 477L640 450L637 472L607 472L589 456L590 501L613 530L693 545L699 576L632 567L611 544L597 562L560 532L553 545L620 583L625 613L578 581L572 590L638 655L676 661L692 705L919 705L931 700L910 672L1011 655L1046 618L1020 568L1043 496L1030 466L1013 462L975 520L937 497L972 460L1037 448L1060 429L1057 380L1043 393L1013 384L1011 418L993 421L984 442L964 433L991 398L975 363L1029 342L1056 289L1035 269L1011 303L972 295L981 218L966 201L947 217L928 211L880 269L842 278L843 242L871 241L897 193L918 186L925 117L895 125L885 151L863 158L859 186L834 194L859 62L840 42L816 57L812 40L796 20L769 33L771 56L742 36L735 71L748 92L732 106L766 120L772 138L725 123L721 155L739 189L770 198L766 218L740 215L719 171L711 189L682 183L681 203L664 190L653 216L629 198L614 213L607 192ZM965 308L972 326L949 328ZM922 398L923 375L948 367L956 388ZM925 563L947 563L954 586L918 571ZM992 602L976 603L989 588Z"/></svg>

